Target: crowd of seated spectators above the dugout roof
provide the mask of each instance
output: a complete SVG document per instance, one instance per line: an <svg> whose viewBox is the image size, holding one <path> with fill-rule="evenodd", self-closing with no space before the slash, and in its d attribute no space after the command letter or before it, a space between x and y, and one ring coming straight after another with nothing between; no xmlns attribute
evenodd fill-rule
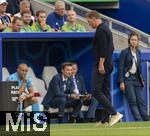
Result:
<svg viewBox="0 0 150 136"><path fill-rule="evenodd" d="M9 10L13 6L13 11ZM18 17L18 18L16 18ZM18 20L20 21L18 25ZM14 29L15 28L15 29ZM47 15L41 9L33 15L30 0L0 0L1 32L85 32L84 26L77 22L74 10L66 11L65 3L55 2L55 9Z"/></svg>

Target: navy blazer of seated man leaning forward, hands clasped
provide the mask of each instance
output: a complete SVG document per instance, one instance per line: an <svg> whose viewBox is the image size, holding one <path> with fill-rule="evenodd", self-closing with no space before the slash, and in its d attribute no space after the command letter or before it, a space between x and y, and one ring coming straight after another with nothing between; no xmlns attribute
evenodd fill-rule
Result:
<svg viewBox="0 0 150 136"><path fill-rule="evenodd" d="M72 78L68 78L66 82L66 90L64 91L64 82L62 79L62 74L55 75L50 84L48 91L42 101L44 108L46 110L49 109L50 102L53 98L56 97L68 97L71 93L73 93L74 85Z"/></svg>

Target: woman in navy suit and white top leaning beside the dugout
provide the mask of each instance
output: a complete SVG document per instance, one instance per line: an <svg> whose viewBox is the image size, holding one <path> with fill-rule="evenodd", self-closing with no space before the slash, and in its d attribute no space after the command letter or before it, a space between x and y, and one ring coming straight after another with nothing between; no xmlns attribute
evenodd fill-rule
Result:
<svg viewBox="0 0 150 136"><path fill-rule="evenodd" d="M128 38L129 47L122 50L119 60L120 89L125 93L135 121L148 121L144 102L144 81L141 73L141 51L139 36L132 32Z"/></svg>

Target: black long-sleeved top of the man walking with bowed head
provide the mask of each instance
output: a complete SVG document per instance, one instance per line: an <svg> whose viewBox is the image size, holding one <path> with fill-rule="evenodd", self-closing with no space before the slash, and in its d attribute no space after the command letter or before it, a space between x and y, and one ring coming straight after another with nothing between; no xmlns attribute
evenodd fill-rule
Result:
<svg viewBox="0 0 150 136"><path fill-rule="evenodd" d="M110 29L101 23L95 32L93 39L94 67L98 67L100 57L105 58L104 67L106 72L113 69L112 54L114 51L113 37Z"/></svg>

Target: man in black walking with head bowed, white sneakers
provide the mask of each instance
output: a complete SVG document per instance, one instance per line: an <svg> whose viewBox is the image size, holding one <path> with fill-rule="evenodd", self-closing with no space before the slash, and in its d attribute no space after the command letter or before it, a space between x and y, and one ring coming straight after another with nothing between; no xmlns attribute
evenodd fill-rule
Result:
<svg viewBox="0 0 150 136"><path fill-rule="evenodd" d="M114 50L113 37L110 29L102 23L100 15L93 10L87 13L87 21L92 28L96 28L93 39L93 72L92 72L92 91L93 96L102 104L106 111L103 116L109 117L110 121L103 120L99 122L108 122L110 126L116 124L123 115L116 112L112 106L110 96L110 76L113 71L112 54Z"/></svg>

